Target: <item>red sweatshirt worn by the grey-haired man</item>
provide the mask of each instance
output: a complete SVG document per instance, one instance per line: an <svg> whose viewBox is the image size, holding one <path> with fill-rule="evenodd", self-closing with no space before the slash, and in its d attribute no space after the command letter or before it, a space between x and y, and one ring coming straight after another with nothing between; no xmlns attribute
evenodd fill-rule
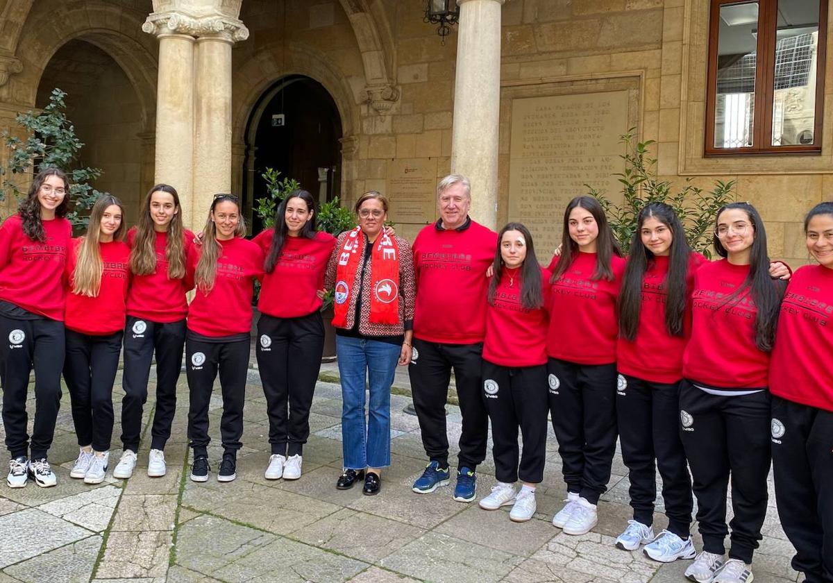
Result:
<svg viewBox="0 0 833 583"><path fill-rule="evenodd" d="M413 244L414 336L444 344L482 342L486 269L495 261L497 233L471 219L456 229L440 225L423 228Z"/></svg>

